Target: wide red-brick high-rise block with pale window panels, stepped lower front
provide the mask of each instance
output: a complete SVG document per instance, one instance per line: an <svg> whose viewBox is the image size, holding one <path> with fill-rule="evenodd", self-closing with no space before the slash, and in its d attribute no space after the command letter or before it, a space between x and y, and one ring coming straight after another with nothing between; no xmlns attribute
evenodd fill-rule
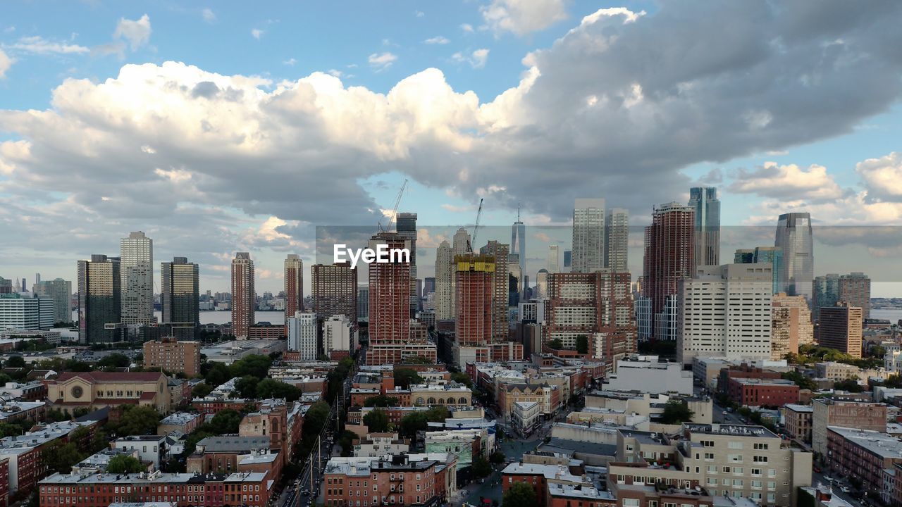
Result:
<svg viewBox="0 0 902 507"><path fill-rule="evenodd" d="M548 273L545 309L547 341L575 349L578 336L588 338L588 353L612 371L635 351L636 323L630 273L603 268L595 272Z"/></svg>

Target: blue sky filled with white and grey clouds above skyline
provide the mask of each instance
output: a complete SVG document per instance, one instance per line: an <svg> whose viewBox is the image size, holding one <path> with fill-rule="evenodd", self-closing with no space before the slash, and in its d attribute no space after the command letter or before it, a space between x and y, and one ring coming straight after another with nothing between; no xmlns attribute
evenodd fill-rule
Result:
<svg viewBox="0 0 902 507"><path fill-rule="evenodd" d="M0 276L74 280L78 259L143 230L155 263L200 263L203 290L227 290L248 251L258 291L278 291L287 253L314 261L317 226L374 231L404 180L423 245L473 224L481 198L480 242L509 240L519 206L529 272L545 267L541 227L566 245L575 198L641 226L711 185L724 226L808 211L824 227L816 274L868 272L874 295L902 296L900 14L839 0L11 0Z"/></svg>

